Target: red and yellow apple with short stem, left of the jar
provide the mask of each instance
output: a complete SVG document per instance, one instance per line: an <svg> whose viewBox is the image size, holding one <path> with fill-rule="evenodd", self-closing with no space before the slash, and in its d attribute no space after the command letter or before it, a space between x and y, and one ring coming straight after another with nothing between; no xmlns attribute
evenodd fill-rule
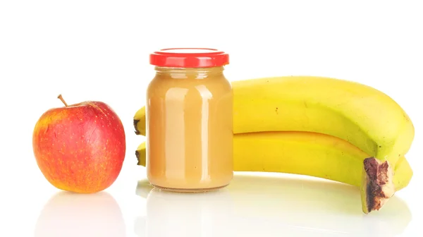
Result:
<svg viewBox="0 0 423 237"><path fill-rule="evenodd" d="M75 193L109 188L125 159L121 119L104 102L87 101L47 110L35 124L32 147L51 185Z"/></svg>

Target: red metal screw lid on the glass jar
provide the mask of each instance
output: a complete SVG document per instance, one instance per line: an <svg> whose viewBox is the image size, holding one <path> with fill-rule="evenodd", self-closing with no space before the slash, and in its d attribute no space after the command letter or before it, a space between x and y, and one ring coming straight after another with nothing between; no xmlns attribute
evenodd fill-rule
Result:
<svg viewBox="0 0 423 237"><path fill-rule="evenodd" d="M217 49L174 48L161 49L150 54L150 64L176 68L211 68L225 66L229 55Z"/></svg>

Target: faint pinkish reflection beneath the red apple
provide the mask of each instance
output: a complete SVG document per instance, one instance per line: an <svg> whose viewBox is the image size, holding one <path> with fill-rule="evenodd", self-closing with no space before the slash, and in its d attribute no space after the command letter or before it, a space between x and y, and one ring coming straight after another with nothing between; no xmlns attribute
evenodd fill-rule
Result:
<svg viewBox="0 0 423 237"><path fill-rule="evenodd" d="M125 222L114 197L106 192L56 193L42 209L35 236L125 236Z"/></svg>

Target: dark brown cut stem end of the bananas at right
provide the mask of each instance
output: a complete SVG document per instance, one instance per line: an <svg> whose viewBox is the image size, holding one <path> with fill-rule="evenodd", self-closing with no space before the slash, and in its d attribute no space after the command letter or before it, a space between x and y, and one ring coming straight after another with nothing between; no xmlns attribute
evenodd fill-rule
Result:
<svg viewBox="0 0 423 237"><path fill-rule="evenodd" d="M382 162L374 157L364 159L363 163L367 212L372 212L381 209L395 193L393 170L388 161Z"/></svg>

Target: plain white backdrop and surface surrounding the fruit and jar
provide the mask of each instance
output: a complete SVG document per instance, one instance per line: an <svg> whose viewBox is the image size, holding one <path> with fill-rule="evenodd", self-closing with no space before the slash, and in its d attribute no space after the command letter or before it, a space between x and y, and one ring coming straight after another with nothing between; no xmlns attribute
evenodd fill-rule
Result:
<svg viewBox="0 0 423 237"><path fill-rule="evenodd" d="M1 236L418 236L422 12L422 1L0 1ZM132 119L154 74L148 54L166 47L228 51L231 80L321 75L385 92L415 124L410 185L367 216L355 188L278 174L146 200ZM124 123L123 170L102 194L58 196L37 167L32 130L59 93L106 102Z"/></svg>

